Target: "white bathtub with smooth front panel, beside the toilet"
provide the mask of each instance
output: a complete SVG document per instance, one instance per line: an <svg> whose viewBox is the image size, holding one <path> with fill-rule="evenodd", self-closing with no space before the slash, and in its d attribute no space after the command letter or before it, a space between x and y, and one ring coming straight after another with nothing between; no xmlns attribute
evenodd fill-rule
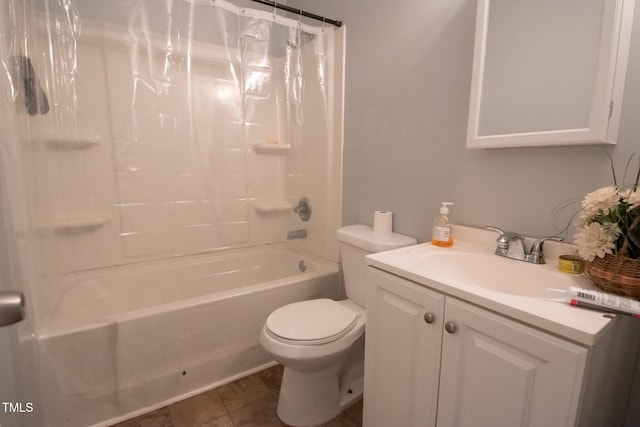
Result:
<svg viewBox="0 0 640 427"><path fill-rule="evenodd" d="M106 426L273 365L277 307L336 298L338 265L290 245L69 275L36 337L47 426Z"/></svg>

